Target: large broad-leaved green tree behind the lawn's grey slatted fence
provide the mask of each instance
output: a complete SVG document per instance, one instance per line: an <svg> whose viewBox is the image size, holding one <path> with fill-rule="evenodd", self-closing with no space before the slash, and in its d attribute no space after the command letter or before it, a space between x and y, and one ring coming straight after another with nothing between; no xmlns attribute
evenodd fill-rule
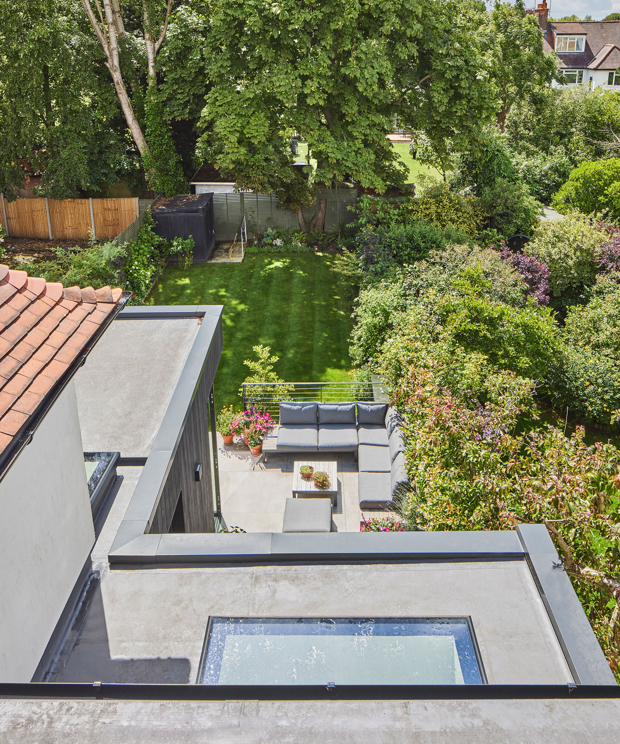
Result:
<svg viewBox="0 0 620 744"><path fill-rule="evenodd" d="M496 94L476 41L479 10L439 0L220 0L201 151L237 186L278 193L302 230L313 190L345 179L380 193L405 170L386 139L394 115L455 147L476 139ZM316 161L293 167L296 132Z"/></svg>

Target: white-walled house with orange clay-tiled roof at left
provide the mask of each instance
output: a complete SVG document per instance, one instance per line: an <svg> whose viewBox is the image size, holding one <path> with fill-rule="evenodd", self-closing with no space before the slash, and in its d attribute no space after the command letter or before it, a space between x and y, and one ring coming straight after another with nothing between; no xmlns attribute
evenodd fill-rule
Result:
<svg viewBox="0 0 620 744"><path fill-rule="evenodd" d="M95 542L74 374L129 293L0 266L0 681L29 682Z"/></svg>

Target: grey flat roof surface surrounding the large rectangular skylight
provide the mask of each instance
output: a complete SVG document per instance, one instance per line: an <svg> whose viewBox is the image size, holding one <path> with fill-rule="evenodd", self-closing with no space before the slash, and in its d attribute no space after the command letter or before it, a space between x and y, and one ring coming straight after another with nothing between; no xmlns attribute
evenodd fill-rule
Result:
<svg viewBox="0 0 620 744"><path fill-rule="evenodd" d="M107 571L52 680L193 684L210 615L466 615L489 684L573 682L525 560Z"/></svg>

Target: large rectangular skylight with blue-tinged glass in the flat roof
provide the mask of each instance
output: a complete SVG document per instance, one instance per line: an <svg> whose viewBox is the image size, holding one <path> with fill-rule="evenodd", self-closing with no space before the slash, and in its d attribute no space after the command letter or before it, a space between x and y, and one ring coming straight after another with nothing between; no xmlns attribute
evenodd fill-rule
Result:
<svg viewBox="0 0 620 744"><path fill-rule="evenodd" d="M197 684L486 684L470 618L209 618Z"/></svg>

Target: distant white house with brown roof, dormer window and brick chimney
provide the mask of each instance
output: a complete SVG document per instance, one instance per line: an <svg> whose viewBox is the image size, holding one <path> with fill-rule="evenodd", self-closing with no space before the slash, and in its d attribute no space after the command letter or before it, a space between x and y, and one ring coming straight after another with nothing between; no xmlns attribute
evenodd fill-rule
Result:
<svg viewBox="0 0 620 744"><path fill-rule="evenodd" d="M550 21L546 0L535 10L545 37L544 48L555 53L565 86L587 86L589 90L620 86L620 21ZM560 86L560 83L553 83Z"/></svg>

